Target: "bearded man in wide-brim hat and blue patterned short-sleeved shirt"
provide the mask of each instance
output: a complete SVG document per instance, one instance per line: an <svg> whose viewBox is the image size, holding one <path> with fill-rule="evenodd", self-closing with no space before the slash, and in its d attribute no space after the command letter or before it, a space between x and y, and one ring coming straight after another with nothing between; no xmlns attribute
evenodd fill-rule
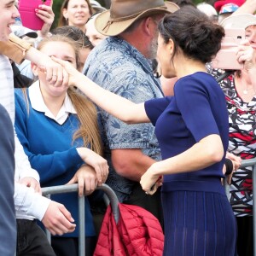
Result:
<svg viewBox="0 0 256 256"><path fill-rule="evenodd" d="M110 10L96 18L97 31L108 38L90 52L84 74L133 102L162 97L150 60L156 58L160 20L177 9L163 0L113 0ZM126 125L104 111L100 116L110 166L108 185L119 201L145 208L162 224L160 191L146 195L139 183L148 167L161 158L154 126Z"/></svg>

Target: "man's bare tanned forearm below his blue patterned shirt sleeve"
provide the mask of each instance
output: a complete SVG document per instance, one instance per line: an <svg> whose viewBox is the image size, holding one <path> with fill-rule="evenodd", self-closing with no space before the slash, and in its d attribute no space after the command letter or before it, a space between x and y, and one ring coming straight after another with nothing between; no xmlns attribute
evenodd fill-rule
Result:
<svg viewBox="0 0 256 256"><path fill-rule="evenodd" d="M115 171L122 177L139 182L155 160L139 148L112 149L111 160Z"/></svg>

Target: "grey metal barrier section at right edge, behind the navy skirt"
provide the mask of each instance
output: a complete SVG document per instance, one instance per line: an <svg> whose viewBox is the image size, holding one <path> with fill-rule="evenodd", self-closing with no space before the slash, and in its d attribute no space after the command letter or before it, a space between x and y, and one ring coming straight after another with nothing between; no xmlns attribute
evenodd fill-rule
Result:
<svg viewBox="0 0 256 256"><path fill-rule="evenodd" d="M256 185L254 185L254 181L256 183L256 158L242 160L241 168L253 166L253 256L256 256L256 203L254 203L254 195L256 195ZM225 183L226 195L230 198L230 189L229 185Z"/></svg>

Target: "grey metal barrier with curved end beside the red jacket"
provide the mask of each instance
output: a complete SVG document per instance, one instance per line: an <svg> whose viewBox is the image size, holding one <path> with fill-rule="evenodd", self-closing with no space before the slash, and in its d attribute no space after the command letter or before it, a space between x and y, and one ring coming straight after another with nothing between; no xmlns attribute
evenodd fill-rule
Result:
<svg viewBox="0 0 256 256"><path fill-rule="evenodd" d="M112 207L113 218L114 218L115 222L118 223L119 200L118 200L117 196L115 195L115 193L113 192L113 189L111 189L106 184L102 184L102 186L98 186L96 189L100 189L106 195L108 195L108 202L110 203L110 205ZM61 186L42 188L42 194L47 197L50 197L50 195L54 195L54 194L71 193L71 192L78 192L78 191L79 191L78 184L61 185ZM105 201L106 201L106 199L105 199ZM85 213L84 213L84 195L83 195L83 196L79 196L79 256L85 255L84 222L85 222ZM46 230L46 236L50 242L49 230Z"/></svg>

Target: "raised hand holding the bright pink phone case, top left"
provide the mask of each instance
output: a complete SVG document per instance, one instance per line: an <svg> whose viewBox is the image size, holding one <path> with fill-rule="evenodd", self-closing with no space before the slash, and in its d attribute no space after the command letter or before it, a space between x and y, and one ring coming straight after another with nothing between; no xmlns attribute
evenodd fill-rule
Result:
<svg viewBox="0 0 256 256"><path fill-rule="evenodd" d="M41 30L38 31L38 35L41 38L48 38L50 27L52 26L53 21L55 20L55 14L51 6L41 4L36 9L36 15L38 18L44 21L44 25Z"/></svg>

